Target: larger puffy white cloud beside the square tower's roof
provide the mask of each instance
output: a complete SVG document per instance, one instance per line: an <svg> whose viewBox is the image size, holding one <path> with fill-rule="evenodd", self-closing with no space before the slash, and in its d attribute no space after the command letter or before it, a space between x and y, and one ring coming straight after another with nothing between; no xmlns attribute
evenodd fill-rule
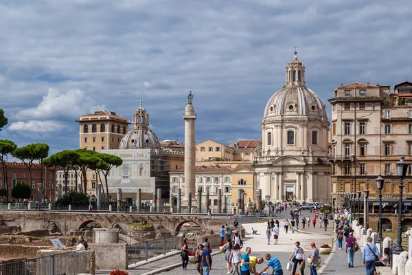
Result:
<svg viewBox="0 0 412 275"><path fill-rule="evenodd" d="M45 118L78 118L92 111L106 109L104 105L96 106L95 100L86 96L80 89L60 94L56 89L49 88L47 96L37 107L18 111L15 117L22 119Z"/></svg>

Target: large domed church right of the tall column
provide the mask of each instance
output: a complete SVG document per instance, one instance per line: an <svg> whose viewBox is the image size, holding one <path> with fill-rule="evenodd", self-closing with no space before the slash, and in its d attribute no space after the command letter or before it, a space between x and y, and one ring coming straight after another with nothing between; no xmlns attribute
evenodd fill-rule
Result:
<svg viewBox="0 0 412 275"><path fill-rule="evenodd" d="M325 105L305 85L305 65L286 63L286 85L268 100L262 148L253 166L262 199L330 201L329 122Z"/></svg>

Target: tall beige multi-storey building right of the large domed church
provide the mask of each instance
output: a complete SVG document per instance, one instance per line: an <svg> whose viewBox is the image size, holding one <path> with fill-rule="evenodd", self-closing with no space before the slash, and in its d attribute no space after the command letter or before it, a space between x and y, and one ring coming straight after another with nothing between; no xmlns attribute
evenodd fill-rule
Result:
<svg viewBox="0 0 412 275"><path fill-rule="evenodd" d="M346 192L370 190L385 178L383 195L396 198L396 162L412 163L412 83L391 87L354 83L334 89L332 104L332 199L343 203ZM412 193L411 169L404 192Z"/></svg>

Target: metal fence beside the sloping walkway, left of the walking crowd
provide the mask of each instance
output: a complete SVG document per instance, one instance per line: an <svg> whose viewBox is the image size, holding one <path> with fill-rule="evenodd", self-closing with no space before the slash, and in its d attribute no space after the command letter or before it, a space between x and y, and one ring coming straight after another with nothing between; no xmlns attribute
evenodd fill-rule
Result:
<svg viewBox="0 0 412 275"><path fill-rule="evenodd" d="M155 258L160 255L165 255L167 252L172 252L176 250L177 240L177 236L168 236L161 239L129 245L129 264L137 263L139 261L148 261L150 258Z"/></svg>

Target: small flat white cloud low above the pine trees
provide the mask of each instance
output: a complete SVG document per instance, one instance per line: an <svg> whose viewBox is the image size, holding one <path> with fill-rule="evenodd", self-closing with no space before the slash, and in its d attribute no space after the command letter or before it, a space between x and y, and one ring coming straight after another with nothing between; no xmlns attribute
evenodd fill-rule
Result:
<svg viewBox="0 0 412 275"><path fill-rule="evenodd" d="M63 128L65 128L65 124L58 121L38 121L38 120L29 120L27 122L19 121L13 122L8 126L8 130L10 131L27 131L27 132L34 132L34 133L58 133Z"/></svg>

